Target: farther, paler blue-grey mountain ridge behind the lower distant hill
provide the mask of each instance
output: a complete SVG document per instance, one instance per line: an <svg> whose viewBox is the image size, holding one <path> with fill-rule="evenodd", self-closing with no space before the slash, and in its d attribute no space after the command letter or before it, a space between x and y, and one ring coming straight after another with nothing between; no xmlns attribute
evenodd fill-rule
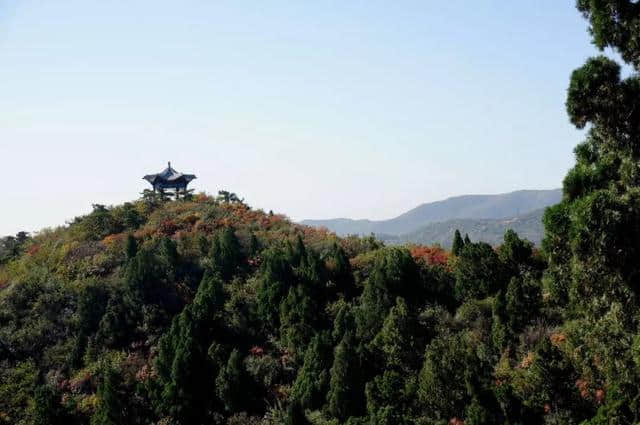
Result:
<svg viewBox="0 0 640 425"><path fill-rule="evenodd" d="M560 189L520 190L499 195L463 195L422 204L398 217L381 220L303 220L302 224L326 227L338 235L359 234L400 236L419 231L437 222L458 219L505 219L555 205L562 199ZM491 235L488 235L489 240ZM480 238L485 240L484 238ZM539 237L537 237L539 239Z"/></svg>

